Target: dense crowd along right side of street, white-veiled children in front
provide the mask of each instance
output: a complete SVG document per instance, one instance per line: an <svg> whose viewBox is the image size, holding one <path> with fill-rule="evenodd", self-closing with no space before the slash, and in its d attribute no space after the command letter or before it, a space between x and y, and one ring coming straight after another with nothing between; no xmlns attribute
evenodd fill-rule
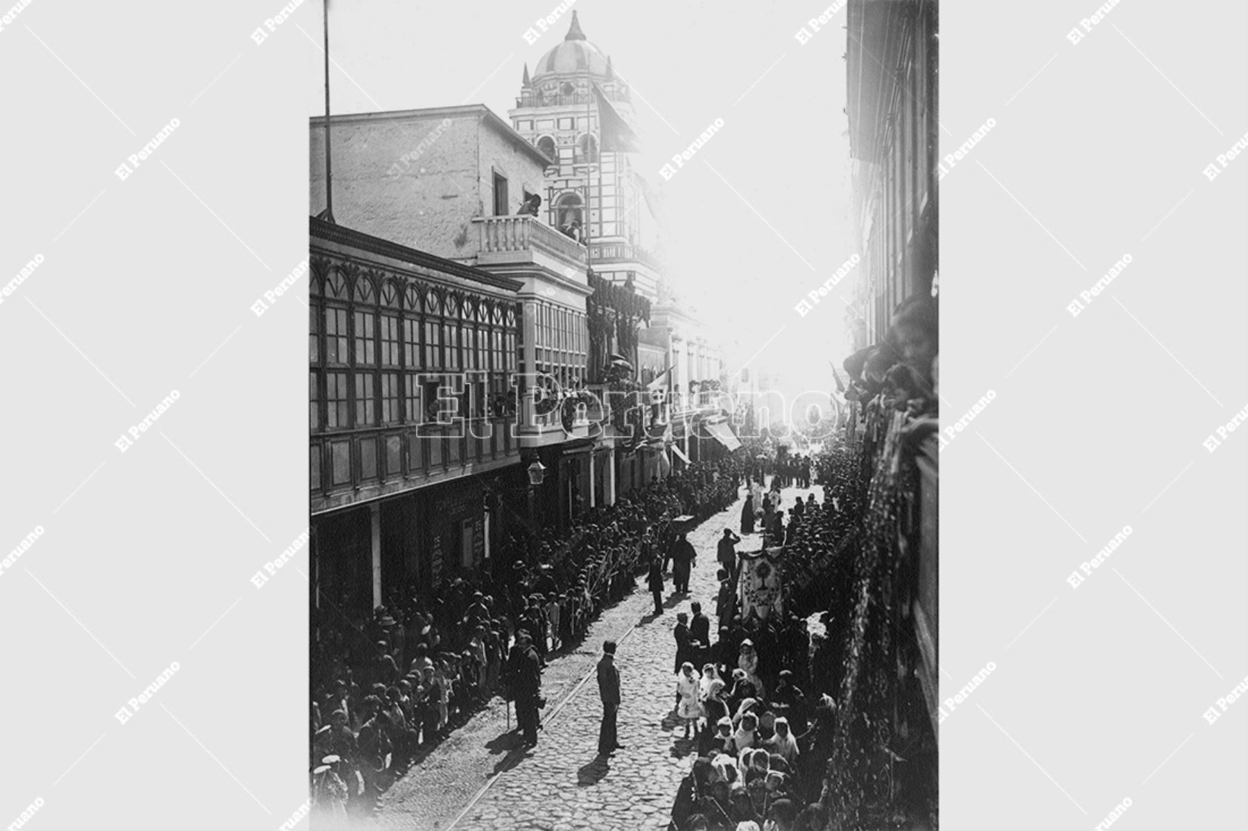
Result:
<svg viewBox="0 0 1248 831"><path fill-rule="evenodd" d="M925 756L934 747L917 731L879 741L876 716L882 714L860 702L871 697L866 688L895 675L896 666L879 660L887 649L865 643L884 640L877 619L869 626L869 609L884 600L887 583L862 561L859 465L857 453L841 442L814 459L824 503L807 500L794 512L779 559L781 600L769 614L751 609L743 619L735 575L720 571L718 639L696 656L703 661L693 714L698 729L689 750L696 749L698 759L681 784L670 829L884 827L880 816L871 820L877 825L842 822L851 815L847 806L860 810L871 787L886 779L900 782L895 787L902 792L884 801L906 804L911 816L922 814L925 800L935 805L935 777L924 790L921 776L894 777L889 770L890 759L907 759L914 770L930 761L935 770L934 755ZM869 660L876 664L866 666ZM872 692L879 697L879 690ZM925 714L906 717L912 724ZM861 811L854 819L861 822Z"/></svg>

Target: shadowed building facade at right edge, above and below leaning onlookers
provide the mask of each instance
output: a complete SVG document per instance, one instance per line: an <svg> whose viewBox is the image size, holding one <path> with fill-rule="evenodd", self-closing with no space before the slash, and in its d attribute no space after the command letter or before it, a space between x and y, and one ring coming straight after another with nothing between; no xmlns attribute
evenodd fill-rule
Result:
<svg viewBox="0 0 1248 831"><path fill-rule="evenodd" d="M847 10L852 217L861 246L854 349L879 344L899 303L936 296L938 263L937 4L850 0ZM856 419L855 419L856 423ZM938 724L937 443L912 458L915 600L907 609L932 729Z"/></svg>

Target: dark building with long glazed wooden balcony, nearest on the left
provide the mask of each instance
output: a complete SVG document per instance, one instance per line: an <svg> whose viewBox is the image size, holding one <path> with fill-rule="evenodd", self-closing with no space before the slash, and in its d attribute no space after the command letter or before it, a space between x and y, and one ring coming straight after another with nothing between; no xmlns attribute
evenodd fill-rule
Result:
<svg viewBox="0 0 1248 831"><path fill-rule="evenodd" d="M317 218L310 265L312 576L318 605L367 614L498 548L522 283Z"/></svg>

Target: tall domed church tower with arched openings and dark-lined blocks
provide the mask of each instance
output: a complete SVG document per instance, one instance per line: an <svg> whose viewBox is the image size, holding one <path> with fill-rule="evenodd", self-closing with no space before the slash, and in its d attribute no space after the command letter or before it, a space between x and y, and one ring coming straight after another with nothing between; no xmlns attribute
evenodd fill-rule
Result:
<svg viewBox="0 0 1248 831"><path fill-rule="evenodd" d="M631 126L628 85L615 75L610 56L585 39L573 11L568 34L534 64L532 75L524 65L520 95L508 116L552 161L542 195L547 221L560 230L574 221L585 228L594 273L615 283L631 275L636 291L653 301L661 279L653 256L656 227L628 155L599 152L602 122L592 85Z"/></svg>

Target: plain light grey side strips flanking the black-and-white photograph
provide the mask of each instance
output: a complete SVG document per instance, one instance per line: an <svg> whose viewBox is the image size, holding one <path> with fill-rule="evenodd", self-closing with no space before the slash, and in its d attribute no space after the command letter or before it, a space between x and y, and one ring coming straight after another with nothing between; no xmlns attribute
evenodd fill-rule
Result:
<svg viewBox="0 0 1248 831"><path fill-rule="evenodd" d="M42 799L26 829L276 829L306 799L306 549L250 581L307 525L306 283L250 309L307 255L319 5L257 45L281 5L34 0L0 30L0 284L45 257L0 303L0 553L44 528L0 571L5 826ZM996 393L942 452L943 696L996 669L941 725L941 820L1129 797L1117 827L1243 829L1248 701L1202 712L1248 674L1248 428L1202 442L1248 403L1248 156L1201 171L1248 130L1248 21L1124 1L1071 44L1094 12L942 9L942 152L996 120L941 181L943 423Z"/></svg>

